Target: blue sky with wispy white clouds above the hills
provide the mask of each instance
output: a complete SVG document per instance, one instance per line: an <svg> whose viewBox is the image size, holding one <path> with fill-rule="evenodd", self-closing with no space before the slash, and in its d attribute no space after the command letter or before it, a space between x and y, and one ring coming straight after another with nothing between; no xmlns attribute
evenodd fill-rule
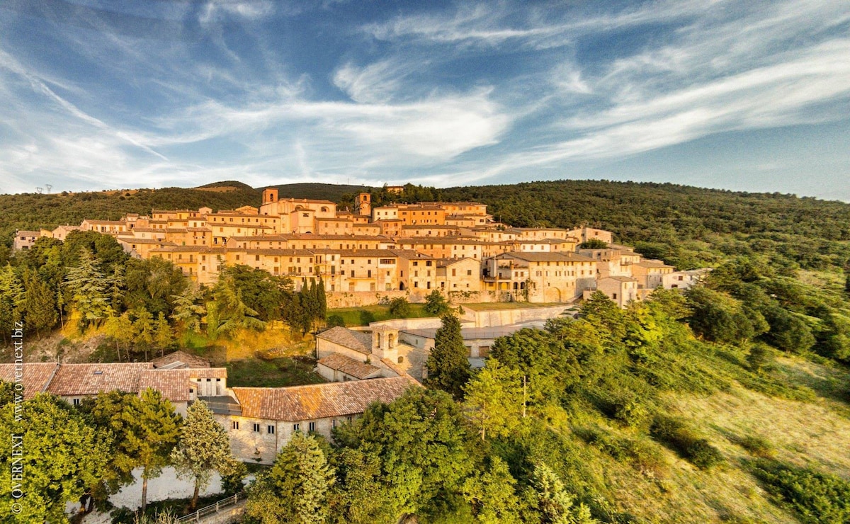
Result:
<svg viewBox="0 0 850 524"><path fill-rule="evenodd" d="M559 178L850 201L850 3L0 3L4 193Z"/></svg>

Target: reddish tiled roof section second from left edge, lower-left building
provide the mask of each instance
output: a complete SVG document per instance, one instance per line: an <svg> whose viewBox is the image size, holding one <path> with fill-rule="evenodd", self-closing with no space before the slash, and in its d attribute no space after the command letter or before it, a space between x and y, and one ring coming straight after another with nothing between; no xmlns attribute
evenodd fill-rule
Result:
<svg viewBox="0 0 850 524"><path fill-rule="evenodd" d="M77 363L59 366L47 391L59 396L96 395L119 390L139 392L139 379L151 363Z"/></svg>

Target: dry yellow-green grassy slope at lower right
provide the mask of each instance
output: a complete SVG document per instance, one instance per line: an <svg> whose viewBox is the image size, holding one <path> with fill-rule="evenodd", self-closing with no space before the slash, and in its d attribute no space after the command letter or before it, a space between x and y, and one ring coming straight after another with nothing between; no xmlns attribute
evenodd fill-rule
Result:
<svg viewBox="0 0 850 524"><path fill-rule="evenodd" d="M641 522L797 522L745 470L745 462L752 457L737 442L743 437L763 437L782 462L850 479L850 405L836 400L835 388L836 383L850 383L850 373L802 358L780 358L777 371L808 376L801 382L818 396L811 402L798 402L733 383L727 391L711 395L668 393L664 397L667 412L688 419L723 453L725 465L699 470L669 449L644 440L660 451L665 465L639 471L575 438L587 480L615 501L612 510ZM603 418L570 421L572 428L588 424L602 425L621 437L637 435Z"/></svg>

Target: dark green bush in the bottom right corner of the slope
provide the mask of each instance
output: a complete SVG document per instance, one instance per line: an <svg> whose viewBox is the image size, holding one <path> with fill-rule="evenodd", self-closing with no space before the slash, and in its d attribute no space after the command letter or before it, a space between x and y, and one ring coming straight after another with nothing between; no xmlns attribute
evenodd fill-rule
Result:
<svg viewBox="0 0 850 524"><path fill-rule="evenodd" d="M850 482L768 459L758 459L751 470L768 492L796 510L803 522L850 522Z"/></svg>

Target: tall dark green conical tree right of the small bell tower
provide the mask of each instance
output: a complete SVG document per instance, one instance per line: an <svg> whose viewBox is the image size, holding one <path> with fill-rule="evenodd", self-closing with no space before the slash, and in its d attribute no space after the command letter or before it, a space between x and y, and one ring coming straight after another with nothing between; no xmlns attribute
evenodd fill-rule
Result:
<svg viewBox="0 0 850 524"><path fill-rule="evenodd" d="M454 315L443 316L443 325L434 335L433 349L425 362L428 378L425 384L463 397L463 386L469 380L467 347L461 335L461 321Z"/></svg>

